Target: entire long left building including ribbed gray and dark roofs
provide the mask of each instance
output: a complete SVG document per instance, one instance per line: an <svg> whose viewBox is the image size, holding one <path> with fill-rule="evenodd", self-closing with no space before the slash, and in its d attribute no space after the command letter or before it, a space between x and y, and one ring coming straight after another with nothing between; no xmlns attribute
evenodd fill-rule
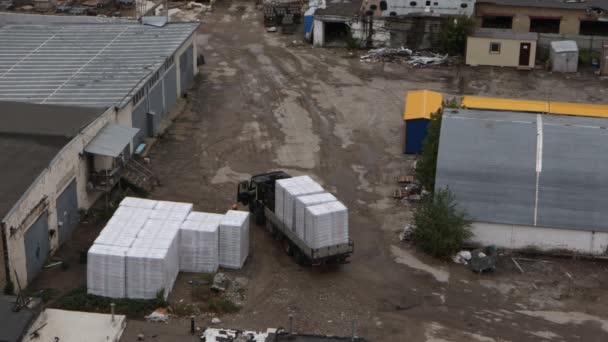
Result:
<svg viewBox="0 0 608 342"><path fill-rule="evenodd" d="M0 287L31 282L137 165L194 82L198 26L0 28Z"/></svg>

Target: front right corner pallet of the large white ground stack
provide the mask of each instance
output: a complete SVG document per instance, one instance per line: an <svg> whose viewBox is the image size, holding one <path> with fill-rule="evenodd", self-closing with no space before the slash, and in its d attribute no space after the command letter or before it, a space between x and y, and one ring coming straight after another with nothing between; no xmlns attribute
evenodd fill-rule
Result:
<svg viewBox="0 0 608 342"><path fill-rule="evenodd" d="M177 257L171 256L171 250L131 247L126 260L128 298L150 299L160 290L169 295L177 274Z"/></svg>

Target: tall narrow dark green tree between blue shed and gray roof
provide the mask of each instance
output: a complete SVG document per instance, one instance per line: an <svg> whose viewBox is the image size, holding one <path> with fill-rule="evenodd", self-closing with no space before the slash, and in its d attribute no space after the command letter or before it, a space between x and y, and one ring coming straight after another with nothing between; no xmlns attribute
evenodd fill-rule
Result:
<svg viewBox="0 0 608 342"><path fill-rule="evenodd" d="M416 162L416 179L422 187L430 192L435 188L435 173L437 171L437 152L439 151L439 135L441 133L442 112L431 114L426 137L422 143L422 154Z"/></svg>

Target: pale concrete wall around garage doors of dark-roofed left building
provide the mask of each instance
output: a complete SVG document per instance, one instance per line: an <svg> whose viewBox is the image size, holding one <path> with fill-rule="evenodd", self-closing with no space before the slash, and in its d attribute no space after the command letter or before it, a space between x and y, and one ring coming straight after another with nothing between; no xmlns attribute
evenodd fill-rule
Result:
<svg viewBox="0 0 608 342"><path fill-rule="evenodd" d="M99 193L86 189L89 167L83 151L85 146L108 122L116 120L114 108L84 128L72 139L42 171L36 181L15 204L2 221L7 239L10 278L15 282L13 270L17 272L21 286L31 281L27 279L24 236L27 229L43 211L48 212L49 230L55 230L50 238L51 254L59 247L56 201L61 192L76 179L78 206L89 208L99 197Z"/></svg>

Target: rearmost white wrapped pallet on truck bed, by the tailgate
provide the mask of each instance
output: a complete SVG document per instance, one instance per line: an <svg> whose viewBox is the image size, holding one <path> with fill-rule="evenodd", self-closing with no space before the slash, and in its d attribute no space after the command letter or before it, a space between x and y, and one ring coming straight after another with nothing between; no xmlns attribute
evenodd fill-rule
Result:
<svg viewBox="0 0 608 342"><path fill-rule="evenodd" d="M347 243L348 209L338 201L307 207L304 230L306 244L312 248Z"/></svg>

